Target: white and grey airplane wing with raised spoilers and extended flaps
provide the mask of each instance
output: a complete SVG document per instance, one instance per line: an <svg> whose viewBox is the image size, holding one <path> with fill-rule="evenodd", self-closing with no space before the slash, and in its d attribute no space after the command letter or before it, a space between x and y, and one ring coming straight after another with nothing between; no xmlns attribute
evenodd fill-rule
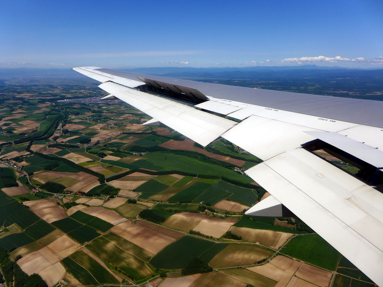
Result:
<svg viewBox="0 0 383 287"><path fill-rule="evenodd" d="M102 82L110 93L105 99L121 99L153 117L153 125L161 122L203 146L223 137L262 159L246 173L272 196L246 214L292 212L383 286L383 102L74 70Z"/></svg>

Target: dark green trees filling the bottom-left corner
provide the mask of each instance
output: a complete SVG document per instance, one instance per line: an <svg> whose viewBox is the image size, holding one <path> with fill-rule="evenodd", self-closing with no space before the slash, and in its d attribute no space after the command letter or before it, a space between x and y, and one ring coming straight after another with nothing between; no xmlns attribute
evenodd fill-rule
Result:
<svg viewBox="0 0 383 287"><path fill-rule="evenodd" d="M46 282L40 275L32 274L28 276L16 262L11 261L7 250L1 247L0 265L4 274L4 277L0 277L0 283L6 282L7 286L14 287L47 287Z"/></svg>

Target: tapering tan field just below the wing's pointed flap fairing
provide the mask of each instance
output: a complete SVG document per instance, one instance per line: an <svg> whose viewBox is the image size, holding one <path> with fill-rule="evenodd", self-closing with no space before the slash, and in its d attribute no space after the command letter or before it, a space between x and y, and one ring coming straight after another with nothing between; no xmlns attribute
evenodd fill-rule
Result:
<svg viewBox="0 0 383 287"><path fill-rule="evenodd" d="M242 236L242 238L246 240L269 246L274 249L280 248L288 238L293 236L291 233L236 226L231 227L230 231L236 235Z"/></svg>

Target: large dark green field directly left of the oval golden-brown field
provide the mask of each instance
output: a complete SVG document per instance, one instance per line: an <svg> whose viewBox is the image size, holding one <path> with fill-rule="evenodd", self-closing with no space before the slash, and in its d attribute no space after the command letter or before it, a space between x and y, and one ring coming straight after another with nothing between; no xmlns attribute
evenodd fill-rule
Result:
<svg viewBox="0 0 383 287"><path fill-rule="evenodd" d="M203 240L192 236L183 236L181 239L166 246L157 253L150 263L156 268L164 269L180 269L194 257L203 258L204 260L213 258L223 248L222 243L214 243L212 241ZM182 256L180 256L182 254Z"/></svg>

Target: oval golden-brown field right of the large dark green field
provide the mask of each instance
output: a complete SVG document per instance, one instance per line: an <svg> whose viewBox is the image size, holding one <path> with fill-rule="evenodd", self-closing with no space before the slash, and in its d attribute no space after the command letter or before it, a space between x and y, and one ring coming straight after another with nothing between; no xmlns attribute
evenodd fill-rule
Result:
<svg viewBox="0 0 383 287"><path fill-rule="evenodd" d="M209 264L213 267L254 264L272 254L273 251L254 244L232 243L214 256Z"/></svg>

